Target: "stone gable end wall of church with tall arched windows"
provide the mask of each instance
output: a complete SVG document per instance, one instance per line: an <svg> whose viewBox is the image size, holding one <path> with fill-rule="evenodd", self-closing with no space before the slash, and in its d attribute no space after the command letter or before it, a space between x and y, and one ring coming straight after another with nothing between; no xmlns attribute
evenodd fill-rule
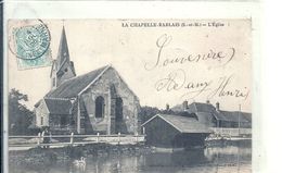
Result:
<svg viewBox="0 0 282 173"><path fill-rule="evenodd" d="M114 88L111 89L111 87ZM103 118L95 118L95 99L100 96L104 98L104 114ZM119 123L124 124L126 131L120 133L138 133L139 100L113 67L110 67L101 78L81 95L92 129L94 132L104 132L105 134L118 133L117 129L115 129L116 118L114 100L116 98L121 98L123 100L123 121Z"/></svg>

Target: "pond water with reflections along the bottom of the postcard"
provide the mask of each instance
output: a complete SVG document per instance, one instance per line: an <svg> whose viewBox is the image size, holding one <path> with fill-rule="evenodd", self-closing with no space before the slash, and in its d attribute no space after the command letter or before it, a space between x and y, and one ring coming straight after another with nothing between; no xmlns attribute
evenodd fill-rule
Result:
<svg viewBox="0 0 282 173"><path fill-rule="evenodd" d="M228 145L175 152L88 157L86 166L73 162L41 168L17 168L14 173L251 173L252 148Z"/></svg>

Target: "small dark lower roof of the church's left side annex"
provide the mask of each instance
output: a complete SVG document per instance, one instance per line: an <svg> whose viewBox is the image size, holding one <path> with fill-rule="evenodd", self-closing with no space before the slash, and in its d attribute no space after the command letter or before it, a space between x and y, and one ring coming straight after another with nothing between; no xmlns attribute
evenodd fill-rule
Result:
<svg viewBox="0 0 282 173"><path fill-rule="evenodd" d="M70 114L72 102L68 99L44 98L48 111L51 114Z"/></svg>

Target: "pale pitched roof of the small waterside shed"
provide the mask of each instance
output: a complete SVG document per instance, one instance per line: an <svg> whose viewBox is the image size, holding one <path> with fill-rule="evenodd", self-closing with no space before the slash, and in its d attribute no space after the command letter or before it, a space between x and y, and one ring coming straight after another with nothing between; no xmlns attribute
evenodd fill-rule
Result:
<svg viewBox="0 0 282 173"><path fill-rule="evenodd" d="M142 126L156 119L157 116L166 121L168 124L172 125L180 133L211 133L204 124L200 123L196 119L172 114L156 114L144 124L142 124Z"/></svg>

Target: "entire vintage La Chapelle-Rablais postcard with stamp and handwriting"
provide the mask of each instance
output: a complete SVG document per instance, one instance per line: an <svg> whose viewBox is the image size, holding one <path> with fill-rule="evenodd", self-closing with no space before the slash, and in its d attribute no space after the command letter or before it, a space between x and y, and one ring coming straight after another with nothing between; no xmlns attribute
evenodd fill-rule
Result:
<svg viewBox="0 0 282 173"><path fill-rule="evenodd" d="M252 173L252 20L9 20L10 173Z"/></svg>

